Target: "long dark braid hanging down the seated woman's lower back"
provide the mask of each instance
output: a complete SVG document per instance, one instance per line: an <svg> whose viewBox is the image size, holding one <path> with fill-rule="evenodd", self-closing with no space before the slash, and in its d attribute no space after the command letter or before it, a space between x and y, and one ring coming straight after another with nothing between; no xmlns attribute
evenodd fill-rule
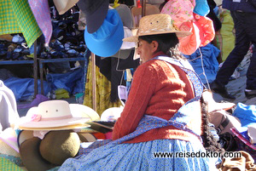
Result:
<svg viewBox="0 0 256 171"><path fill-rule="evenodd" d="M220 151L224 152L224 149L220 146L216 139L214 139L210 132L209 119L208 119L208 104L201 98L201 114L202 114L202 130L201 136L203 145L207 151Z"/></svg>

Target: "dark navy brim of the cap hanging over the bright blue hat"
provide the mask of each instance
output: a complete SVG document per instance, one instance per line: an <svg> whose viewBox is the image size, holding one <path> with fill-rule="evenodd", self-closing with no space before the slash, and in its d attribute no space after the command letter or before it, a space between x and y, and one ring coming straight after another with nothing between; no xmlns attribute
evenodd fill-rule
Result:
<svg viewBox="0 0 256 171"><path fill-rule="evenodd" d="M109 1L103 1L102 5L92 14L85 11L86 25L89 33L97 31L105 20L108 14Z"/></svg>

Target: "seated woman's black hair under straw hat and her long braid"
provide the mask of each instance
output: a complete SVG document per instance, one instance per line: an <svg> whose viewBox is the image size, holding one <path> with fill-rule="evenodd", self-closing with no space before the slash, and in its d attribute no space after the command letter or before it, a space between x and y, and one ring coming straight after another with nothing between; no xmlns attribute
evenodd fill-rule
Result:
<svg viewBox="0 0 256 171"><path fill-rule="evenodd" d="M152 41L158 42L159 46L155 53L161 51L177 60L186 60L186 58L183 57L183 55L178 50L178 39L175 33L140 36L139 39L143 39L148 43L152 43ZM224 149L220 146L220 144L213 137L210 131L207 105L208 105L207 102L204 101L203 98L201 98L202 131L203 131L201 138L203 140L203 145L207 151L224 152Z"/></svg>

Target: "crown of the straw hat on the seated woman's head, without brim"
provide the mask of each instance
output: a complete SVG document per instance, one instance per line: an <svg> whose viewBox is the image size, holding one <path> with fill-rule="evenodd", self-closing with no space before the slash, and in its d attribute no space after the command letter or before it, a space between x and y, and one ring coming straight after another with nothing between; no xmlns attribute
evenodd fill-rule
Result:
<svg viewBox="0 0 256 171"><path fill-rule="evenodd" d="M151 14L144 16L139 23L139 35L157 34L160 31L177 31L172 25L169 14Z"/></svg>

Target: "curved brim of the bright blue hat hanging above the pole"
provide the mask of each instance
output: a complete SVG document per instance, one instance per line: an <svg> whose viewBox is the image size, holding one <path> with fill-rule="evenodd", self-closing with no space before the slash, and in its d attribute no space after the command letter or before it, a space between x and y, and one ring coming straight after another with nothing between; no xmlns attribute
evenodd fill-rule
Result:
<svg viewBox="0 0 256 171"><path fill-rule="evenodd" d="M115 9L112 9L115 10ZM90 51L101 57L110 57L119 51L122 46L122 39L124 38L124 27L121 20L114 34L106 38L104 41L97 40L92 34L88 32L88 27L85 27L84 40Z"/></svg>

